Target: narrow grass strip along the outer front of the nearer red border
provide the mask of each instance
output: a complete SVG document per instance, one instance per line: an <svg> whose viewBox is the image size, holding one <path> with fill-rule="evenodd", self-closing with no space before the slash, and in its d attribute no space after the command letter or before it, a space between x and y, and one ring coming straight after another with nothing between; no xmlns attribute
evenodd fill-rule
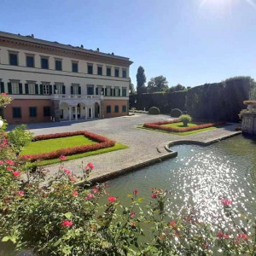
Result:
<svg viewBox="0 0 256 256"><path fill-rule="evenodd" d="M119 150L119 149L125 149L125 148L128 148L128 146L123 145L121 143L115 143L115 145L113 147L102 148L102 149L98 149L95 151L85 152L82 154L67 155L67 160L78 159L78 158L95 155L95 154L104 154L104 153L108 153L108 152ZM46 165L51 165L51 164L55 164L55 163L59 163L59 162L61 162L61 160L59 160L59 159L43 160L38 163L38 166L46 166Z"/></svg>

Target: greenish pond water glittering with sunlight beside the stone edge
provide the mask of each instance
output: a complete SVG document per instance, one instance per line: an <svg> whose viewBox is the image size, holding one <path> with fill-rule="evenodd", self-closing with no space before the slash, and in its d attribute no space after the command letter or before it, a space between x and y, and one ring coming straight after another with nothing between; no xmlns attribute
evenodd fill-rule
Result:
<svg viewBox="0 0 256 256"><path fill-rule="evenodd" d="M129 203L126 197L137 189L150 201L152 187L171 191L168 209L181 211L194 207L205 221L219 218L220 199L233 202L239 212L256 216L256 147L242 136L208 147L181 145L173 147L176 159L144 168L108 182L111 195Z"/></svg>

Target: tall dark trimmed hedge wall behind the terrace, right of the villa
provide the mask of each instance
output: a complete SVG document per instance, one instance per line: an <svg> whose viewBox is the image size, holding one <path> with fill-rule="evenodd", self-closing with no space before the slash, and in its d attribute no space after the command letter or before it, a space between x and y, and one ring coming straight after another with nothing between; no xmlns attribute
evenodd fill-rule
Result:
<svg viewBox="0 0 256 256"><path fill-rule="evenodd" d="M242 102L249 98L253 86L256 83L251 77L235 77L173 93L133 95L130 108L148 110L155 106L168 114L172 108L179 108L195 119L238 122L238 113L244 108Z"/></svg>

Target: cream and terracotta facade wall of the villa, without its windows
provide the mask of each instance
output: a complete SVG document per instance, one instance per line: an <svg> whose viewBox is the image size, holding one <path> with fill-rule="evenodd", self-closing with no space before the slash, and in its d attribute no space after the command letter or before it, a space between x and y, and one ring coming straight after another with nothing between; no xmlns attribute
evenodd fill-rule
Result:
<svg viewBox="0 0 256 256"><path fill-rule="evenodd" d="M10 65L10 54L18 56L17 66ZM33 56L34 67L26 66L27 55ZM41 67L42 57L48 58L49 68ZM55 68L56 60L61 60L61 71ZM78 63L78 72L73 72L73 62ZM4 109L4 118L8 119L9 123L49 121L49 117L44 117L44 105L50 104L53 108L53 116L55 116L55 114L58 114L60 106L53 104L53 101L65 98L68 104L64 106L65 108L60 109L64 110L63 117L67 119L69 107L75 106L74 103L76 102L73 101L73 94L78 95L78 93L73 92L74 84L78 84L80 87L79 97L83 99L84 106L87 106L87 98L88 103L92 101L91 98L87 97L88 94L90 96L100 96L106 93L106 96L101 96L102 117L124 115L128 113L129 67L131 63L125 57L0 32L1 92L7 92L13 98L11 105ZM88 72L88 65L93 67L92 74ZM102 67L102 74L98 73L97 67ZM107 68L111 68L111 76L107 75ZM115 76L115 69L119 70L118 77ZM123 77L123 70L126 72L125 78ZM19 83L19 93L14 94L14 90L9 90L10 86L15 86L11 84L12 82ZM33 94L28 94L27 90L27 84L30 82L33 82L38 89ZM43 88L43 84L49 84L51 92L44 93L43 90L40 90L40 88ZM64 85L65 92L55 90L55 86L58 84ZM20 92L20 86L22 93ZM91 87L93 91L88 93L88 88ZM63 89L63 87L60 88ZM56 97L56 95L58 96ZM107 113L106 106L109 106L109 104L112 106L111 113ZM122 111L124 105L126 105L125 112ZM118 113L114 112L114 106L119 106ZM21 108L22 116L20 119L13 117L13 108L15 107ZM29 116L29 107L37 107L37 117ZM84 113L81 113L81 115L84 115ZM60 117L56 116L55 119L60 119Z"/></svg>

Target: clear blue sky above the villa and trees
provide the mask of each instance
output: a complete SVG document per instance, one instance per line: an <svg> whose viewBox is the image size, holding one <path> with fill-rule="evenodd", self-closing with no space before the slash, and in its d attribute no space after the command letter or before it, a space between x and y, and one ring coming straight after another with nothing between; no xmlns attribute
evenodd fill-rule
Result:
<svg viewBox="0 0 256 256"><path fill-rule="evenodd" d="M256 78L256 0L1 0L0 30L129 57L195 86Z"/></svg>

